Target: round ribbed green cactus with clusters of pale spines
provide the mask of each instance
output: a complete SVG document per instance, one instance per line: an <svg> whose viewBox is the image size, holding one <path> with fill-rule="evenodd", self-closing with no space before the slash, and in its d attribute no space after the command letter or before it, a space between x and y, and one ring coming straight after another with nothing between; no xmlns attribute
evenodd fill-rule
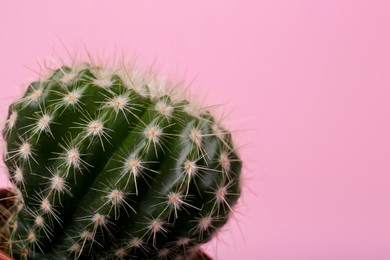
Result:
<svg viewBox="0 0 390 260"><path fill-rule="evenodd" d="M11 104L16 259L184 259L227 222L242 162L231 134L136 70L62 66Z"/></svg>

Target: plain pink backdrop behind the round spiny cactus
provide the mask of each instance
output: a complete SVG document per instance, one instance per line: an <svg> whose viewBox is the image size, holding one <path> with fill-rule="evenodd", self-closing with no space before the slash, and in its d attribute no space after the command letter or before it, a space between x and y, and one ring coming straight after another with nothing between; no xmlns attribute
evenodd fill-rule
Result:
<svg viewBox="0 0 390 260"><path fill-rule="evenodd" d="M47 57L157 59L226 105L245 161L211 255L390 259L389 1L59 2L2 4L2 115Z"/></svg>

